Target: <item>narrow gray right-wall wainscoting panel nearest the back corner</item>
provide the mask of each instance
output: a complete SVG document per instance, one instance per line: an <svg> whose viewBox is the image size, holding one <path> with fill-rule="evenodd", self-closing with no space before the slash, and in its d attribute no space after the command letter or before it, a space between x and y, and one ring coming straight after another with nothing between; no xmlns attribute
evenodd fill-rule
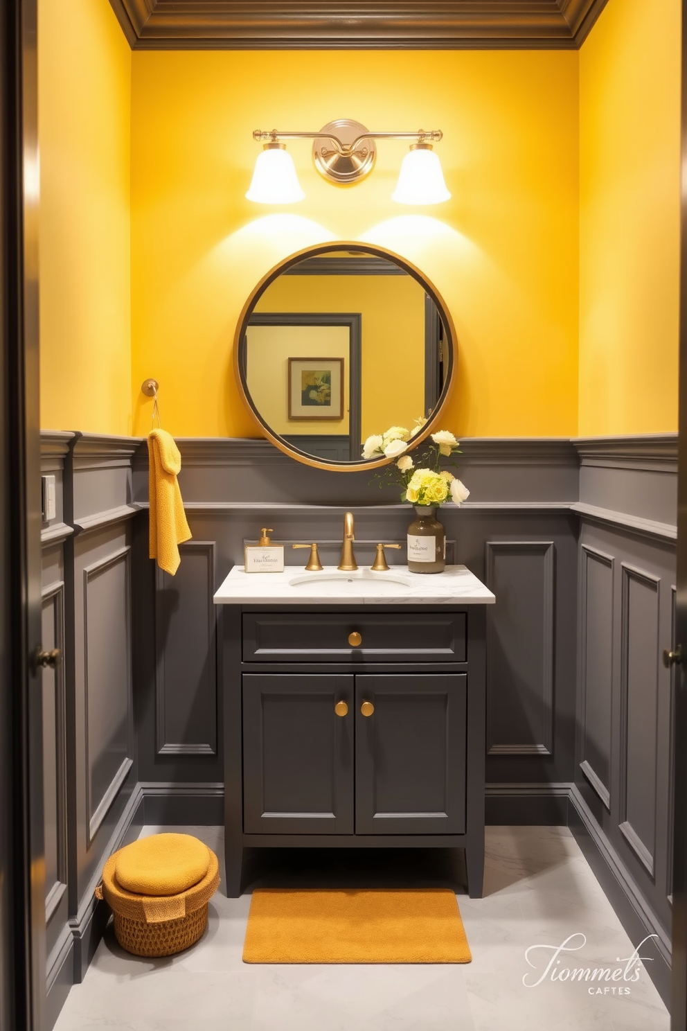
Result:
<svg viewBox="0 0 687 1031"><path fill-rule="evenodd" d="M581 546L580 705L581 767L611 807L613 706L613 556Z"/></svg>

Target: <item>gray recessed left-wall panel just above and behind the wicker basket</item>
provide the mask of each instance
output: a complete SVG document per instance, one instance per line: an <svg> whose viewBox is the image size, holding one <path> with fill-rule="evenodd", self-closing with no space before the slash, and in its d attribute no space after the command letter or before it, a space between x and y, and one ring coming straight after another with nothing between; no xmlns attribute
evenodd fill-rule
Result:
<svg viewBox="0 0 687 1031"><path fill-rule="evenodd" d="M93 597L94 585L99 583L101 588L104 577L116 574L119 567L124 568L124 597L112 596L109 605L103 605L103 598L98 598L93 611L91 610L91 599ZM132 654L131 654L131 546L126 545L94 562L83 568L83 680L84 680L84 758L85 758L85 823L88 828L87 845L90 845L96 836L110 805L117 797L122 785L127 779L129 770L133 765L133 700L132 700ZM114 584L114 589L119 585ZM124 626L112 625L118 612L124 612ZM118 637L113 635L118 634ZM124 644L124 654L122 654ZM111 647L113 645L113 650ZM116 661L124 660L118 672L124 674L124 683L117 680L110 681L111 676L116 676ZM95 687L98 691L98 702L100 711L94 708ZM123 704L118 713L114 712L112 692L119 690L124 696L118 699ZM105 708L104 706L107 706ZM111 730L110 718L118 716L119 726L115 727L121 735L118 741L110 741L104 749L104 754L94 755L92 735L96 729L100 731L100 736ZM97 726L96 721L102 721ZM122 726L124 724L124 726ZM102 741L99 742L101 745ZM102 762L103 758L108 758L108 753L114 751L114 744L121 754L121 760L114 771L110 770L110 779L106 787L98 791L99 797L94 797L94 774L96 762Z"/></svg>

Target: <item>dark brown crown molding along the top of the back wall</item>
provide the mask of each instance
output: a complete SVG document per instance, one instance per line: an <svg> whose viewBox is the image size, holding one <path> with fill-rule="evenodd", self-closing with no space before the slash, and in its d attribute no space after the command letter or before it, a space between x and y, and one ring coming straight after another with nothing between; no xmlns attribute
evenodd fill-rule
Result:
<svg viewBox="0 0 687 1031"><path fill-rule="evenodd" d="M133 49L577 49L607 0L110 0Z"/></svg>

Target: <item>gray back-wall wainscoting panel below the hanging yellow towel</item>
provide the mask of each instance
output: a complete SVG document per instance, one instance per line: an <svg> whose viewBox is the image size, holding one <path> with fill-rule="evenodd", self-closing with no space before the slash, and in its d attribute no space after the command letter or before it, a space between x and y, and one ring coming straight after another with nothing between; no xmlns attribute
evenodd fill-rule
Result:
<svg viewBox="0 0 687 1031"><path fill-rule="evenodd" d="M156 646L159 755L217 752L215 543L179 546L174 576L157 570Z"/></svg>

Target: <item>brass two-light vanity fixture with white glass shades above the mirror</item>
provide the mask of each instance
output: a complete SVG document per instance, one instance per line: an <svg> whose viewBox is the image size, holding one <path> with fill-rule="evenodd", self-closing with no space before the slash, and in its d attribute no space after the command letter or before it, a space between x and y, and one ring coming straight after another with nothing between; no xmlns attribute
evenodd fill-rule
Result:
<svg viewBox="0 0 687 1031"><path fill-rule="evenodd" d="M265 145L257 156L246 198L259 204L290 204L305 197L294 162L281 140L312 139L312 157L319 174L330 182L350 186L372 171L377 158L376 139L411 139L414 142L403 160L391 199L400 204L440 204L451 196L439 158L432 149L432 144L438 143L442 136L440 129L369 132L351 119L329 122L319 132L255 129L253 139Z"/></svg>

